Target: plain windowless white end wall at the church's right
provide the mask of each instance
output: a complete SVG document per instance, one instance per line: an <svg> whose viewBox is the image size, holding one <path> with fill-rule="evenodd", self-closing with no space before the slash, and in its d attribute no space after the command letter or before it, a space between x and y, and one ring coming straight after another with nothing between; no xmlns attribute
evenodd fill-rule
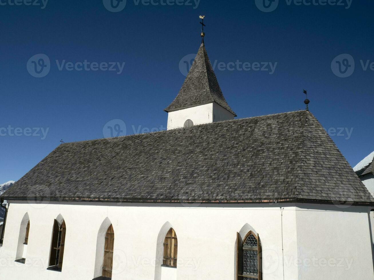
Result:
<svg viewBox="0 0 374 280"><path fill-rule="evenodd" d="M370 218L362 207L298 205L298 279L374 279ZM369 211L369 208L367 208Z"/></svg>

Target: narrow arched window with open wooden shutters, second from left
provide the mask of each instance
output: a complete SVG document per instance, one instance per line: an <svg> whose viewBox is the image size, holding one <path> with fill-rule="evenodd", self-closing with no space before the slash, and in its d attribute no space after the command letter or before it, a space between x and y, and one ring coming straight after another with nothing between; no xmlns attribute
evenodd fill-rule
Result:
<svg viewBox="0 0 374 280"><path fill-rule="evenodd" d="M62 261L64 259L66 225L65 221L59 224L57 220L53 223L52 243L50 248L49 269L62 270Z"/></svg>

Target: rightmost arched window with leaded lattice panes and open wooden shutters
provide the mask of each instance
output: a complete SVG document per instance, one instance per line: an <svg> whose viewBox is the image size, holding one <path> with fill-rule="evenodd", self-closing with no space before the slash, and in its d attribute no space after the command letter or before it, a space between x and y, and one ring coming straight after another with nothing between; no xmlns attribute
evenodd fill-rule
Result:
<svg viewBox="0 0 374 280"><path fill-rule="evenodd" d="M262 280L261 242L252 231L245 239L236 233L237 239L237 280Z"/></svg>

